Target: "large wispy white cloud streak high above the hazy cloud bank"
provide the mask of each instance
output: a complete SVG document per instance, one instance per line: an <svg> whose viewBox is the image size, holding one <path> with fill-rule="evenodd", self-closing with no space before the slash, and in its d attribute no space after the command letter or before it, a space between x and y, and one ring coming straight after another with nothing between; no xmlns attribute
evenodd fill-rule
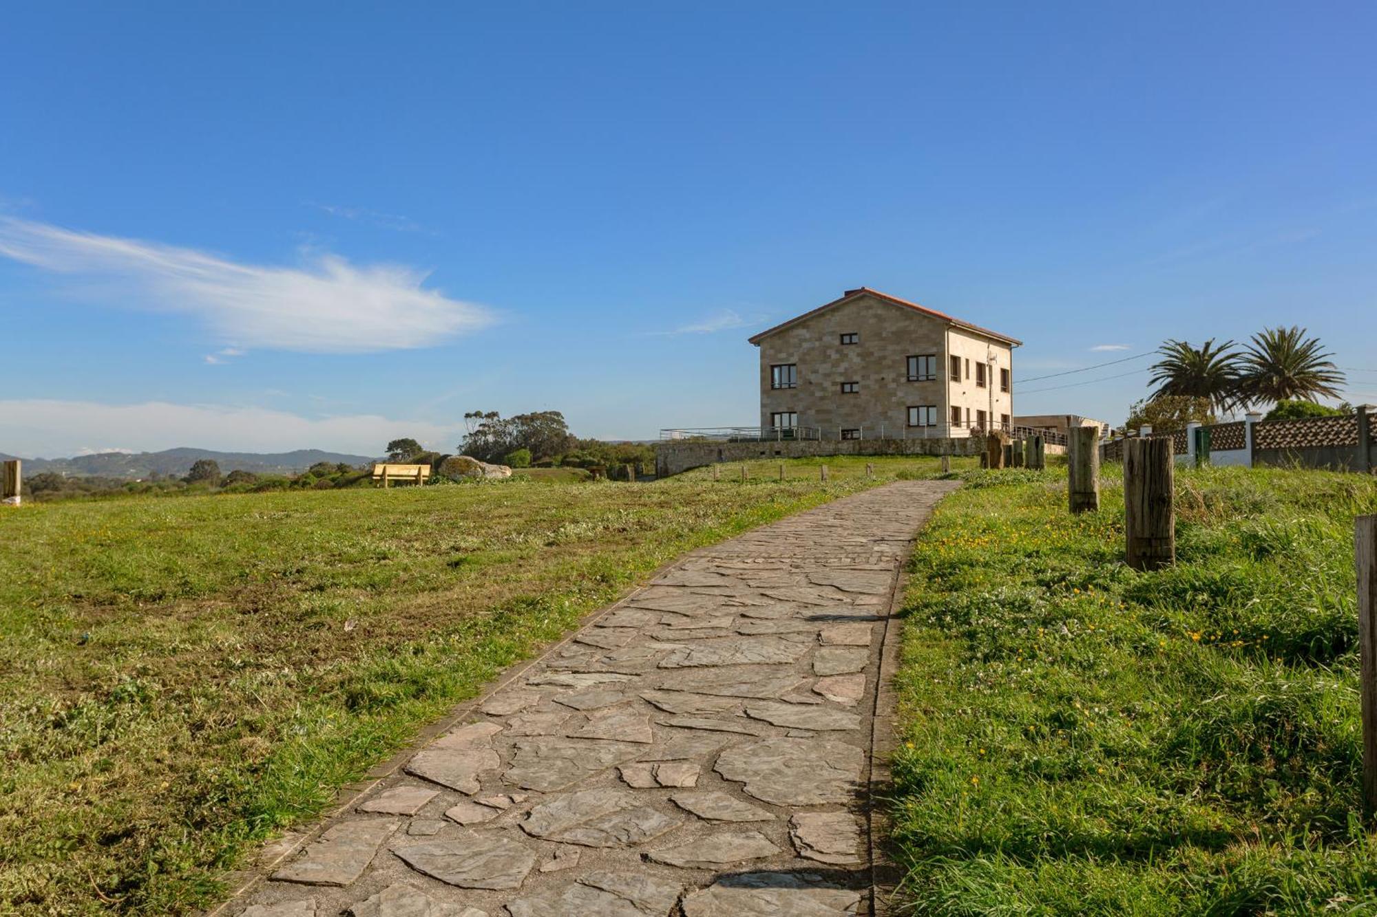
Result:
<svg viewBox="0 0 1377 917"><path fill-rule="evenodd" d="M0 218L0 255L102 281L99 302L189 313L226 341L271 350L369 352L428 347L494 321L425 289L405 264L354 266L329 253L299 267L246 264L191 248Z"/></svg>

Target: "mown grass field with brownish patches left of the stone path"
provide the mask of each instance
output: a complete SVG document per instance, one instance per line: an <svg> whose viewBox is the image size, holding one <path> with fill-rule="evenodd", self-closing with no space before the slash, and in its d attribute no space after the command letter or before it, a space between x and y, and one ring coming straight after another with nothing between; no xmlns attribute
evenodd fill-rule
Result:
<svg viewBox="0 0 1377 917"><path fill-rule="evenodd" d="M0 512L0 913L212 903L503 666L690 548L863 489L863 465Z"/></svg>

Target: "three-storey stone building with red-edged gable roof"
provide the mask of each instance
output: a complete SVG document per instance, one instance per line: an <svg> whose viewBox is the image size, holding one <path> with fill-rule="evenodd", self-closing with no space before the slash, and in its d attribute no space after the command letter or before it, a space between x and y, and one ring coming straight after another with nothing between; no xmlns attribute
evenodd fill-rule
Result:
<svg viewBox="0 0 1377 917"><path fill-rule="evenodd" d="M766 435L967 436L1009 428L1022 341L888 293L841 299L750 339Z"/></svg>

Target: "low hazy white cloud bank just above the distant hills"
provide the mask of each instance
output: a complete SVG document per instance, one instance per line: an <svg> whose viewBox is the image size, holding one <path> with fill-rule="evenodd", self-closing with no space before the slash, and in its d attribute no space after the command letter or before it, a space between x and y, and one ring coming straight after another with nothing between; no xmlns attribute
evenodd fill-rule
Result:
<svg viewBox="0 0 1377 917"><path fill-rule="evenodd" d="M379 414L303 417L269 408L178 405L150 401L102 405L87 401L0 401L0 452L17 456L72 456L96 450L92 443L116 442L121 450L157 452L197 446L226 452L286 452L330 449L361 456L381 454L398 436L414 436L432 449L453 450L464 431Z"/></svg>

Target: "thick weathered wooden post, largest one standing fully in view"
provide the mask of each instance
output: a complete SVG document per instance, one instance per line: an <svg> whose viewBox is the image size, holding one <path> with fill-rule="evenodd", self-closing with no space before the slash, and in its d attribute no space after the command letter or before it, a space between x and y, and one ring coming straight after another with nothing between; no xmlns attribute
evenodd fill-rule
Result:
<svg viewBox="0 0 1377 917"><path fill-rule="evenodd" d="M1135 570L1158 570L1176 560L1172 453L1170 436L1140 436L1125 443L1125 560Z"/></svg>

